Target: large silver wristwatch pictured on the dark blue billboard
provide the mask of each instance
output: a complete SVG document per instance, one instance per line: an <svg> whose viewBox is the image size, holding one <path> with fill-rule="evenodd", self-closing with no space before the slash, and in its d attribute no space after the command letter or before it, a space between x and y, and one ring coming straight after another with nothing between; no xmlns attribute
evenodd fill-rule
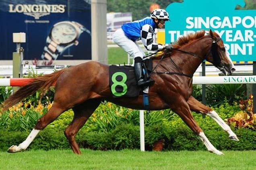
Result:
<svg viewBox="0 0 256 170"><path fill-rule="evenodd" d="M62 21L54 24L46 38L46 46L41 58L49 61L57 59L58 55L68 47L78 45L78 38L84 31L91 34L87 28L78 22Z"/></svg>

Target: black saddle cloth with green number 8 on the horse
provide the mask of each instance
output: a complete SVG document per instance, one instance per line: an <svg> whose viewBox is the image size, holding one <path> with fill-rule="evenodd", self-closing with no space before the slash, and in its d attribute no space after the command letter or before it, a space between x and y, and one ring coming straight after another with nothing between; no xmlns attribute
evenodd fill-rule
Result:
<svg viewBox="0 0 256 170"><path fill-rule="evenodd" d="M148 80L153 70L152 59L143 61L144 79ZM143 88L137 85L134 67L130 65L109 66L109 88L112 96L117 97L137 97L142 94Z"/></svg>

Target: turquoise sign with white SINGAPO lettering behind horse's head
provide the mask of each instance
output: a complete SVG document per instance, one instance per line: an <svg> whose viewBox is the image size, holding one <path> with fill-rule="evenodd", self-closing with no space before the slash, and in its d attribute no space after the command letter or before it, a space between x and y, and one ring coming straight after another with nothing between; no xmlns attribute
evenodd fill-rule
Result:
<svg viewBox="0 0 256 170"><path fill-rule="evenodd" d="M184 0L166 10L165 42L197 30L212 29L225 43L233 61L256 61L256 10L235 10L244 0Z"/></svg>

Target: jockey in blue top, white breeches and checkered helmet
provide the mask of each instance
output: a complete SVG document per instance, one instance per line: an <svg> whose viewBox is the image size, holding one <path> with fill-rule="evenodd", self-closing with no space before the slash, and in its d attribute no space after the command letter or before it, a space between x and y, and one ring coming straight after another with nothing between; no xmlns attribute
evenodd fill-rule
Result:
<svg viewBox="0 0 256 170"><path fill-rule="evenodd" d="M165 45L153 42L155 28L163 28L165 21L169 20L169 14L164 9L156 9L150 17L129 22L122 25L113 34L114 42L122 47L134 59L134 69L138 86L146 86L153 83L153 80L145 81L142 76L142 58L145 53L138 46L136 41L142 40L147 50L157 51L165 48Z"/></svg>

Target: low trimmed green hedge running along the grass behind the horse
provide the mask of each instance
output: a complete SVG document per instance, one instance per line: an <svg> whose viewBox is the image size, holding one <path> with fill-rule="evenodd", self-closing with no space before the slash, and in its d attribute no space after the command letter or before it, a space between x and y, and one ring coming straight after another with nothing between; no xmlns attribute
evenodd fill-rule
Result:
<svg viewBox="0 0 256 170"><path fill-rule="evenodd" d="M152 150L153 143L157 140L153 130L159 130L160 139L163 140L164 150L206 150L201 140L186 127L180 125L174 128L167 128L164 125L145 127L145 148ZM233 130L239 142L229 140L228 134L221 129L204 130L205 135L218 150L255 150L256 131L240 128ZM23 142L29 132L8 132L0 130L0 150L6 151L13 144ZM81 148L93 150L122 150L139 149L140 133L139 126L132 124L122 124L116 129L108 132L88 132L82 129L76 136L76 141ZM39 132L38 136L31 143L28 150L50 150L50 149L70 149L64 133L54 127L46 127Z"/></svg>

